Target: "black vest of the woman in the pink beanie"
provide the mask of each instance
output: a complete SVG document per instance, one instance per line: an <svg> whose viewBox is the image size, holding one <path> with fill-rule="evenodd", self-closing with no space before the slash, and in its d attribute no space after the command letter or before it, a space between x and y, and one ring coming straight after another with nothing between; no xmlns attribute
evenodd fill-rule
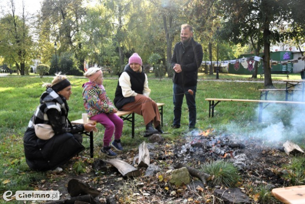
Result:
<svg viewBox="0 0 305 204"><path fill-rule="evenodd" d="M133 71L130 66L127 64L124 69L125 72L130 77L130 83L131 83L131 89L135 91L135 93L143 94L144 89L144 82L145 82L145 74L144 72L135 72ZM123 71L123 72L124 72ZM119 74L119 78L122 75L121 72ZM120 86L120 83L117 82L117 89L115 91L115 97L113 100L114 105L117 107L117 109L121 109L125 104L131 103L135 101L135 97L124 97L122 93L122 88Z"/></svg>

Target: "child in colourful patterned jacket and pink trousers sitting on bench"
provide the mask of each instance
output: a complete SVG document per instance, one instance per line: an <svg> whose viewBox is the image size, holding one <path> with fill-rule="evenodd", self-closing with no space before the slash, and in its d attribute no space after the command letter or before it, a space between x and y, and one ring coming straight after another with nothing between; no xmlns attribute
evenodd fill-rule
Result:
<svg viewBox="0 0 305 204"><path fill-rule="evenodd" d="M114 140L111 146L117 151L122 151L121 135L123 130L123 120L115 113L117 109L106 94L103 84L103 73L98 67L91 67L85 70L84 76L89 82L83 84L84 107L91 120L101 123L106 129L104 133L104 145L101 152L106 157L113 158L117 154L110 148L110 142L114 133Z"/></svg>

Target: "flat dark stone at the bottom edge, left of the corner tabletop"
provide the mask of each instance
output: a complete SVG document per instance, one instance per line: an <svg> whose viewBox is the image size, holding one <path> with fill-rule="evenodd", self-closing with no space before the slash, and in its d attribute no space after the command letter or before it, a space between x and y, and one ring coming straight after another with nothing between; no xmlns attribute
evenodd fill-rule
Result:
<svg viewBox="0 0 305 204"><path fill-rule="evenodd" d="M228 204L251 204L249 197L239 188L216 189L213 195Z"/></svg>

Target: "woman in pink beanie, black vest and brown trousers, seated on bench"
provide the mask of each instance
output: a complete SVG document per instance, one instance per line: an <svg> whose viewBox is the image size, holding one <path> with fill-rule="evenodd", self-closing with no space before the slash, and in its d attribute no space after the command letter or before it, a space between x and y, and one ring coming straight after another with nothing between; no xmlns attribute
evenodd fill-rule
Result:
<svg viewBox="0 0 305 204"><path fill-rule="evenodd" d="M149 98L149 94L147 75L142 70L142 59L134 53L129 58L124 71L119 74L113 102L119 110L134 111L143 116L146 126L144 137L164 133L160 126L158 106Z"/></svg>

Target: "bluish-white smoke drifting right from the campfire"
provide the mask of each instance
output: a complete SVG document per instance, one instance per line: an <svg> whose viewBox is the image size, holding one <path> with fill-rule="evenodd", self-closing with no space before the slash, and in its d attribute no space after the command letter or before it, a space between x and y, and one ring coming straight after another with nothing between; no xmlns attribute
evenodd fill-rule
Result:
<svg viewBox="0 0 305 204"><path fill-rule="evenodd" d="M285 94L275 95L270 93L267 100L285 100ZM289 96L288 100L292 100L292 95ZM302 101L301 91L294 91L293 101ZM263 107L261 123L258 122L259 104L257 104L253 122L247 124L231 122L222 126L222 128L226 133L238 134L239 137L262 139L270 146L282 144L286 140L304 141L304 105L264 103Z"/></svg>

